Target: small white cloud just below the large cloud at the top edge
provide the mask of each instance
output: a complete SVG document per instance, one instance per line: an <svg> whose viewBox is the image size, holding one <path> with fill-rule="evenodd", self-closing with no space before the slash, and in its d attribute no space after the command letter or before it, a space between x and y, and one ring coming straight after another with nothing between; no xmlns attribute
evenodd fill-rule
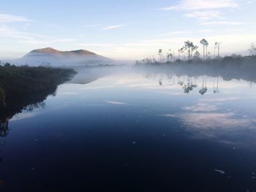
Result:
<svg viewBox="0 0 256 192"><path fill-rule="evenodd" d="M209 20L211 18L220 18L222 13L219 11L201 11L201 12L191 12L184 15L186 18L198 18L200 20Z"/></svg>

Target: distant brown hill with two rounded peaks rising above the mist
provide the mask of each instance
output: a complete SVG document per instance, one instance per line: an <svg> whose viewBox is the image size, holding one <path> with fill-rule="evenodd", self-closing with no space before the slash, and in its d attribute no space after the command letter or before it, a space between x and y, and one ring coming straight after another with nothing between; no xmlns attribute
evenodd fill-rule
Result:
<svg viewBox="0 0 256 192"><path fill-rule="evenodd" d="M23 58L12 61L17 65L29 66L88 66L113 65L114 61L88 50L60 51L52 47L32 50Z"/></svg>

